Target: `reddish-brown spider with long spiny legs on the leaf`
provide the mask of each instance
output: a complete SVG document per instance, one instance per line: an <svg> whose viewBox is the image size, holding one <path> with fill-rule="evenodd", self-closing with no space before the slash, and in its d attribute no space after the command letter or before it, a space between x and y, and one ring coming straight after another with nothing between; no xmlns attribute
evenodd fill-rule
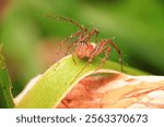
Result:
<svg viewBox="0 0 164 127"><path fill-rule="evenodd" d="M113 48L117 51L117 53L119 55L119 61L120 61L121 71L122 71L122 54L121 54L121 51L113 42L112 39L102 39L99 42L97 42L97 36L99 34L97 28L92 28L92 29L89 30L84 26L80 25L78 22L74 22L74 21L72 21L71 18L68 18L68 17L62 17L62 16L51 15L51 14L48 14L48 15L46 14L45 16L51 17L51 18L55 18L55 20L61 20L61 21L69 22L69 23L71 23L71 24L73 24L73 25L75 25L77 27L80 28L80 30L75 31L70 37L68 37L68 38L66 38L65 40L61 41L61 43L69 42L73 38L75 38L75 40L68 47L67 53L69 52L69 50L72 47L75 46L74 53L80 59L87 59L86 65L89 63L91 63L93 61L93 59L96 58L98 54L105 53L105 56L102 61L102 64L99 65L99 67L102 67L105 64L105 62L106 62L106 60L109 55L109 52L110 52L110 49L112 49L110 46L113 46ZM93 36L96 37L95 43L91 42L91 39L93 38ZM67 53L66 53L66 55L67 55ZM73 61L74 61L74 59L73 59Z"/></svg>

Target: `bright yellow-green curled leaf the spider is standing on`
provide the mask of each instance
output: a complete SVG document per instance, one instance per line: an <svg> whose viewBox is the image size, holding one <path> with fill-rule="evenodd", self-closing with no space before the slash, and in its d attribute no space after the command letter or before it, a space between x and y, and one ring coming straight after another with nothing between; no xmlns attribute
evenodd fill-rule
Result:
<svg viewBox="0 0 164 127"><path fill-rule="evenodd" d="M74 59L74 61L73 61ZM91 75L102 64L95 59L90 64L85 60L69 55L54 64L26 92L16 107L52 107L57 106L70 89L83 77ZM120 71L120 64L106 61L102 69ZM147 73L124 66L128 74L145 75Z"/></svg>

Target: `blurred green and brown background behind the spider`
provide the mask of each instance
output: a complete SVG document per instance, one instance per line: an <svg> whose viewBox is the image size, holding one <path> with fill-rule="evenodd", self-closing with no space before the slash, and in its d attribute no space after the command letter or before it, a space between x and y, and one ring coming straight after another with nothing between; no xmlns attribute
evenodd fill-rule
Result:
<svg viewBox="0 0 164 127"><path fill-rule="evenodd" d="M115 38L126 65L164 74L163 0L0 0L0 43L14 96L56 61L56 42L78 29L44 14L96 27L99 40ZM110 59L118 61L117 55Z"/></svg>

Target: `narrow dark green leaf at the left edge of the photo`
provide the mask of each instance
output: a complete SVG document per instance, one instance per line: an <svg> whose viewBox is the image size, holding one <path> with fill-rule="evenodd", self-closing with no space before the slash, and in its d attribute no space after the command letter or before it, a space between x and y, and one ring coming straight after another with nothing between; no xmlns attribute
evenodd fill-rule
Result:
<svg viewBox="0 0 164 127"><path fill-rule="evenodd" d="M13 98L11 94L11 80L5 66L5 61L1 54L0 46L0 107L11 109L14 106Z"/></svg>

